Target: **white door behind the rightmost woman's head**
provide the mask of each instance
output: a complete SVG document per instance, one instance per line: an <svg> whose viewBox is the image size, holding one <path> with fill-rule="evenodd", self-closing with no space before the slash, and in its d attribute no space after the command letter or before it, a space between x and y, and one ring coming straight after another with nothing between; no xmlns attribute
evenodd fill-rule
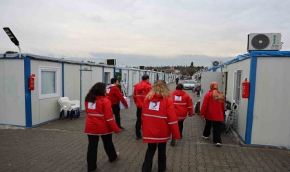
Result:
<svg viewBox="0 0 290 172"><path fill-rule="evenodd" d="M209 92L209 85L212 82L218 83L218 89L222 91L222 73L223 72L202 72L202 79L200 80L200 109L204 100L204 95Z"/></svg>

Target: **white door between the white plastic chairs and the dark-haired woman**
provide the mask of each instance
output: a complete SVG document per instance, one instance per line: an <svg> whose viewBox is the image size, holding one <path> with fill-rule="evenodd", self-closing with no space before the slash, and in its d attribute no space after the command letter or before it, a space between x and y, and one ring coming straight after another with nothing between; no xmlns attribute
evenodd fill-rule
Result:
<svg viewBox="0 0 290 172"><path fill-rule="evenodd" d="M92 87L92 72L91 71L81 71L81 110L85 109L85 98L86 94Z"/></svg>

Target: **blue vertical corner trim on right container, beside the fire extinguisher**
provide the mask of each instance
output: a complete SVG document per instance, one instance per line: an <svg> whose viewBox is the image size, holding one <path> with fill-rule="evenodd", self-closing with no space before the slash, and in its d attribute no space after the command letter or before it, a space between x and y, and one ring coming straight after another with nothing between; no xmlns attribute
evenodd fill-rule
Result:
<svg viewBox="0 0 290 172"><path fill-rule="evenodd" d="M252 137L257 60L258 60L258 56L253 56L253 54L251 52L250 80L249 80L249 82L250 82L250 94L249 94L249 100L248 100L246 136L245 136L245 143L246 144L251 144L251 137Z"/></svg>

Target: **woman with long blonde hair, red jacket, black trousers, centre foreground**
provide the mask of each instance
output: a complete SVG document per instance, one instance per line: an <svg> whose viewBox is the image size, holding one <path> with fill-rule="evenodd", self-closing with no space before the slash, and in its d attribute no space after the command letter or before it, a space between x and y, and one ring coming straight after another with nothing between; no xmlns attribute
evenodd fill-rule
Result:
<svg viewBox="0 0 290 172"><path fill-rule="evenodd" d="M166 142L171 133L180 138L177 116L169 89L158 80L147 94L142 108L143 142L148 143L142 171L151 171L155 151L158 147L158 171L166 170Z"/></svg>

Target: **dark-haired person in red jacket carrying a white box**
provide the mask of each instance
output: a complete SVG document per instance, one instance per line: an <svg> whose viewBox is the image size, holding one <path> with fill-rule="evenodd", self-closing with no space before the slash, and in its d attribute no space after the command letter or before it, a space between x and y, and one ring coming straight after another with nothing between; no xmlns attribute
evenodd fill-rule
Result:
<svg viewBox="0 0 290 172"><path fill-rule="evenodd" d="M111 78L110 85L106 87L106 97L112 103L112 109L118 127L121 130L125 130L124 127L121 127L119 102L121 101L126 109L128 109L128 104L117 85L119 85L119 80L117 78Z"/></svg>

